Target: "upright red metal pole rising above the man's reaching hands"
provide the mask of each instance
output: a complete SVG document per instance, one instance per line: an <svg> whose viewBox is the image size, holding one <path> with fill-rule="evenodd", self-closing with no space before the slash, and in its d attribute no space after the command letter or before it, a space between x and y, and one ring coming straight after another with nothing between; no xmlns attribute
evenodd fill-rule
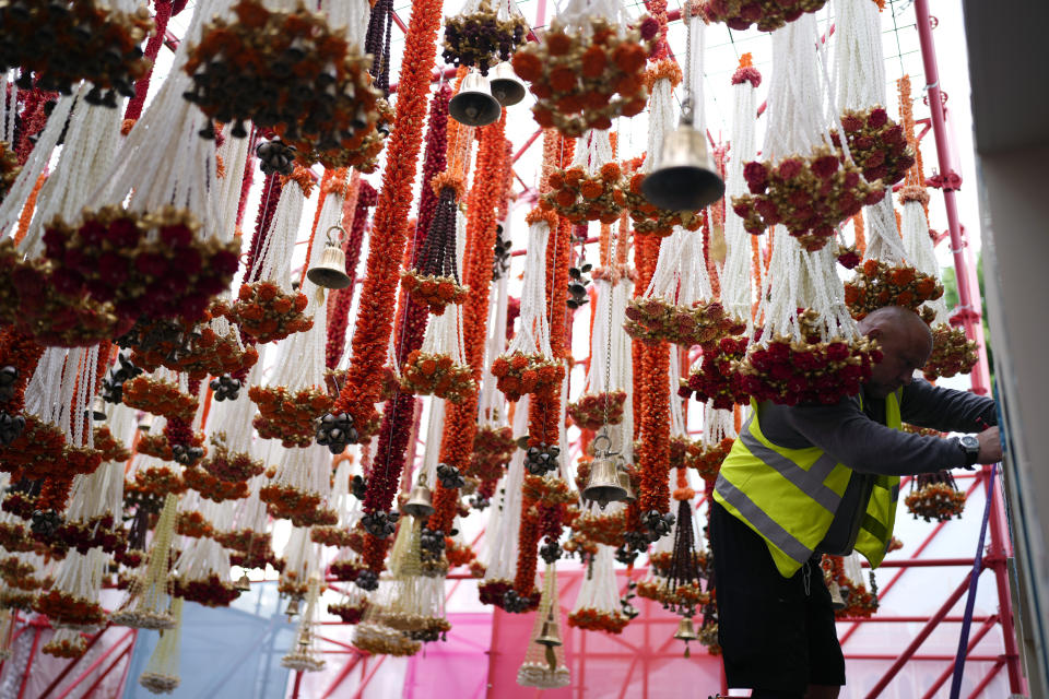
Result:
<svg viewBox="0 0 1049 699"><path fill-rule="evenodd" d="M969 283L970 269L965 257L965 240L958 223L958 209L954 199L954 185L951 175L956 175L951 166L951 142L943 120L942 92L940 91L940 70L936 67L936 47L932 39L932 24L929 15L929 0L915 0L915 14L918 26L918 40L921 45L921 60L926 70L926 91L929 98L929 111L932 118L932 134L936 141L936 159L940 175L945 178L943 203L947 212L947 229L951 233L951 253L954 256L954 272L958 286L958 308L952 318L965 325L969 340L976 341L978 360L973 370L973 392L985 395L990 386L990 372L987 368L987 347L983 344L983 324L980 322L979 298L974 299Z"/></svg>

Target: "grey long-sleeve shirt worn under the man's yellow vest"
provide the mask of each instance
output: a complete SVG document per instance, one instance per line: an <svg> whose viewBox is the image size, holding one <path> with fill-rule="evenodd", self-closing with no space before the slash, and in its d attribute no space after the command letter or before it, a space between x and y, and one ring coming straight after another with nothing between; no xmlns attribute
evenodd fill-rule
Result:
<svg viewBox="0 0 1049 699"><path fill-rule="evenodd" d="M976 433L998 424L994 401L915 379L899 401L905 423L940 431ZM954 439L923 437L885 426L885 401L863 395L835 405L776 405L761 408L762 433L786 449L818 447L852 469L830 529L817 550L846 555L852 550L859 523L877 475L934 473L966 465Z"/></svg>

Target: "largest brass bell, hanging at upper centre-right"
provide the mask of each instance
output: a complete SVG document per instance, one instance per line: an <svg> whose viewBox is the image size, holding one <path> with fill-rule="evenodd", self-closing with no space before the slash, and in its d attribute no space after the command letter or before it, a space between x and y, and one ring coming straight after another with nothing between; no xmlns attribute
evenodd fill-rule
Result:
<svg viewBox="0 0 1049 699"><path fill-rule="evenodd" d="M641 192L656 206L670 211L698 211L724 196L707 150L707 138L693 127L686 104L681 123L667 134L656 168L641 182Z"/></svg>

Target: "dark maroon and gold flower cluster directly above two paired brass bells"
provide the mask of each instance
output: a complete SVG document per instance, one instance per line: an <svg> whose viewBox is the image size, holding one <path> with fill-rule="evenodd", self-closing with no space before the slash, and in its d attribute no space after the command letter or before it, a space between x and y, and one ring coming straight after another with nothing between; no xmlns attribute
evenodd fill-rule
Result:
<svg viewBox="0 0 1049 699"><path fill-rule="evenodd" d="M459 14L445 20L446 63L472 68L476 66L482 75L527 42L528 23L520 12L510 13L507 0L471 0Z"/></svg>

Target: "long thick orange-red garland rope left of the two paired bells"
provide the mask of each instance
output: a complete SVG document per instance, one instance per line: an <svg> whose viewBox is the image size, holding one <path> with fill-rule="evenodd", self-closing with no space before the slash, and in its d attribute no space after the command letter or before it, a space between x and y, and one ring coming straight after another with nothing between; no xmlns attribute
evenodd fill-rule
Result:
<svg viewBox="0 0 1049 699"><path fill-rule="evenodd" d="M375 411L380 389L378 368L385 362L393 325L398 266L403 257L405 224L440 21L441 3L438 0L420 0L412 7L401 62L397 118L387 146L387 166L368 250L368 274L361 292L361 312L353 335L353 359L346 384L332 408L334 413L351 415L362 440L379 427Z"/></svg>

